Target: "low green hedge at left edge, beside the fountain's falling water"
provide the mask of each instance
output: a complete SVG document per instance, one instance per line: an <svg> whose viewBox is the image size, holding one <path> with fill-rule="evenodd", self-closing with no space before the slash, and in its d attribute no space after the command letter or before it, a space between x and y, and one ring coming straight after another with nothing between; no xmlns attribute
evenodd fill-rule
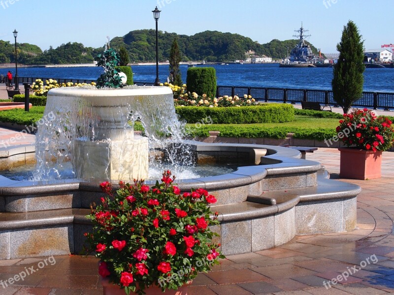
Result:
<svg viewBox="0 0 394 295"><path fill-rule="evenodd" d="M31 125L42 118L45 107L32 107L29 112L25 109L11 109L0 112L0 122L10 122L19 125Z"/></svg>

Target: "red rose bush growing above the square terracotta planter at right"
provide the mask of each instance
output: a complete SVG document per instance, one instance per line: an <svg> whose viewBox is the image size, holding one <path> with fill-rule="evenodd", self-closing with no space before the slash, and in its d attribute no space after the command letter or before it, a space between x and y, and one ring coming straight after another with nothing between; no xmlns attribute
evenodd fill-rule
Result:
<svg viewBox="0 0 394 295"><path fill-rule="evenodd" d="M392 147L394 141L392 121L387 117L376 117L368 109L344 114L336 132L343 144L351 148L385 151Z"/></svg>

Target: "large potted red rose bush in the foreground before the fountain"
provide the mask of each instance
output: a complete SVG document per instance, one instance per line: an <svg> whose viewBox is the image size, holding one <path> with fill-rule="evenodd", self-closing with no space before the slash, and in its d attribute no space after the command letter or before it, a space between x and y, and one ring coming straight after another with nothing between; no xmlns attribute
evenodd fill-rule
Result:
<svg viewBox="0 0 394 295"><path fill-rule="evenodd" d="M152 188L120 181L116 192L100 184L106 197L92 206L93 232L85 236L100 258L104 294L187 294L198 272L224 258L209 228L219 224L209 207L215 197L204 189L181 194L174 179L166 171Z"/></svg>

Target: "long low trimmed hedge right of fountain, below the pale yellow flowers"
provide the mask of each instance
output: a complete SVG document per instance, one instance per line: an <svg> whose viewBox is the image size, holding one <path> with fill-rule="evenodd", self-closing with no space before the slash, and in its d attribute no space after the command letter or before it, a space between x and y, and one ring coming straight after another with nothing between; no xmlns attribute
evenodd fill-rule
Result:
<svg viewBox="0 0 394 295"><path fill-rule="evenodd" d="M197 123L210 117L213 124L283 123L294 120L289 104L259 104L249 107L175 107L181 120ZM209 120L209 121L211 121Z"/></svg>

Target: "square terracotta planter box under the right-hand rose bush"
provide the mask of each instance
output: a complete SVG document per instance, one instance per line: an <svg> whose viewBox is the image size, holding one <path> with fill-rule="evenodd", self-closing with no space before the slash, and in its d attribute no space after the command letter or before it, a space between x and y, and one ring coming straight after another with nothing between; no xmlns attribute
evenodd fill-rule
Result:
<svg viewBox="0 0 394 295"><path fill-rule="evenodd" d="M382 151L338 148L341 152L339 176L350 179L376 179L381 177Z"/></svg>

